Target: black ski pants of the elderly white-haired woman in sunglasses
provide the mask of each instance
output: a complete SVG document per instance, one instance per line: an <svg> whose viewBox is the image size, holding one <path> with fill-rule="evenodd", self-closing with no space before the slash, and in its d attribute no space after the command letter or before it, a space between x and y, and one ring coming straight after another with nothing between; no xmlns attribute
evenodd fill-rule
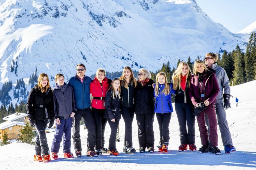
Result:
<svg viewBox="0 0 256 170"><path fill-rule="evenodd" d="M146 149L155 145L154 122L155 114L136 114L138 124L139 145Z"/></svg>

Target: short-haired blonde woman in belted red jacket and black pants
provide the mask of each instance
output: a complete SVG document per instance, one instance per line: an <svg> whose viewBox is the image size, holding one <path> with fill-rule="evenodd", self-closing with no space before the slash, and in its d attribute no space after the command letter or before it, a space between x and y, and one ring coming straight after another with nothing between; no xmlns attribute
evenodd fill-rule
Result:
<svg viewBox="0 0 256 170"><path fill-rule="evenodd" d="M98 69L95 78L90 84L90 93L92 93L92 115L96 125L96 152L98 155L107 153L108 149L104 148L105 138L104 132L107 119L104 118L105 113L105 96L111 84L111 80L105 77L106 71L102 68Z"/></svg>

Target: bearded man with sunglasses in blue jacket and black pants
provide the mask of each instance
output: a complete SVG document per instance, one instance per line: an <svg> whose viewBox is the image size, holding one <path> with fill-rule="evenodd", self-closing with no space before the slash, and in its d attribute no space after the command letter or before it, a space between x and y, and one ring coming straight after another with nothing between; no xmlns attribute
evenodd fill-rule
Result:
<svg viewBox="0 0 256 170"><path fill-rule="evenodd" d="M92 79L85 76L85 66L80 63L76 65L76 75L71 77L68 85L73 87L74 98L76 100L77 112L73 118L73 143L76 151L76 156L82 156L82 144L80 139L80 121L84 118L85 126L88 130L87 134L87 156L98 156L94 150L96 143L96 127L91 111L90 100L90 84Z"/></svg>

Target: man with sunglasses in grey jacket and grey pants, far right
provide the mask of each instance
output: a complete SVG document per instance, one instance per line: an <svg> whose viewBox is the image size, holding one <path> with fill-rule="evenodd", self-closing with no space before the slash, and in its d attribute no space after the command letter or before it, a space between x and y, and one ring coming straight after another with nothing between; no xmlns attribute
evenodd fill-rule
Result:
<svg viewBox="0 0 256 170"><path fill-rule="evenodd" d="M230 153L236 151L236 148L233 146L232 143L232 138L229 132L228 128L228 122L226 118L226 111L225 109L230 108L230 85L229 85L229 79L227 76L226 71L217 65L218 61L218 55L215 53L207 53L204 58L204 62L206 66L212 70L215 71L216 78L219 83L220 87L220 93L218 97L216 98L216 114L217 114L217 119L218 119L218 125L220 128L220 134L221 134L221 139L222 143L224 146L225 153ZM224 94L223 94L224 90ZM224 106L223 106L224 103ZM208 126L208 133L210 131L209 128L209 120L207 115L205 115L205 122Z"/></svg>

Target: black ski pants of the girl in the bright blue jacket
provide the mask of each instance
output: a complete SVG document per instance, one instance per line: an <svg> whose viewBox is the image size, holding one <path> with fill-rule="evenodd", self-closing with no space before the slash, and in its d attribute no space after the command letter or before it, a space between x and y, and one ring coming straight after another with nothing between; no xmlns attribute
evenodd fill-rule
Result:
<svg viewBox="0 0 256 170"><path fill-rule="evenodd" d="M171 121L172 113L156 113L156 119L159 125L160 131L160 146L163 143L169 143L170 131L169 124Z"/></svg>

